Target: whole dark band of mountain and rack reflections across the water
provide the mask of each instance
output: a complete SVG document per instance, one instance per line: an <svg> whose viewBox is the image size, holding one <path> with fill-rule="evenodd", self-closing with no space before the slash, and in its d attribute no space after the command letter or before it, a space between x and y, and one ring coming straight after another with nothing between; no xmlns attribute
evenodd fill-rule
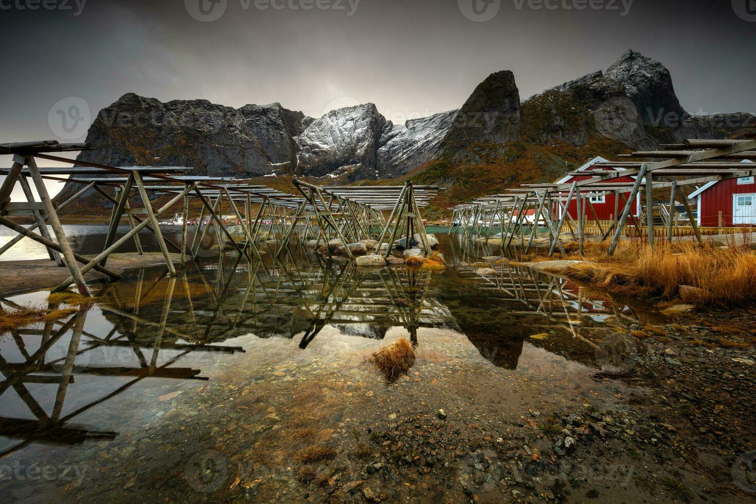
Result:
<svg viewBox="0 0 756 504"><path fill-rule="evenodd" d="M448 262L470 264L491 252L446 251ZM500 369L518 369L523 358L533 358L533 347L600 369L596 333L647 317L562 277L505 261L494 267L497 274L486 277L466 266L444 274L403 266L365 271L287 253L280 260L268 255L265 263L222 254L177 277L160 267L131 271L105 285L95 305L0 339L0 456L29 444L112 440L121 431L86 425L93 418L87 412L102 404L98 412L107 415L117 406L111 399L147 379L207 380L203 362L215 369L244 353L229 340L247 333L259 341L292 340L306 356L312 342L334 332L384 339L401 327L422 347L419 329L449 329ZM0 305L39 305L46 294L0 298ZM203 361L203 354L211 359Z"/></svg>

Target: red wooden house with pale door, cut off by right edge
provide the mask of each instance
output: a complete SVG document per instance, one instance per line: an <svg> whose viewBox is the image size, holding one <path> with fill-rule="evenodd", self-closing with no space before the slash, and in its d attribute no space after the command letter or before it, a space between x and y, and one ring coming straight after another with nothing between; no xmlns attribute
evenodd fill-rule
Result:
<svg viewBox="0 0 756 504"><path fill-rule="evenodd" d="M748 159L743 162L754 164ZM697 201L699 226L756 225L756 181L752 176L708 182L688 198Z"/></svg>

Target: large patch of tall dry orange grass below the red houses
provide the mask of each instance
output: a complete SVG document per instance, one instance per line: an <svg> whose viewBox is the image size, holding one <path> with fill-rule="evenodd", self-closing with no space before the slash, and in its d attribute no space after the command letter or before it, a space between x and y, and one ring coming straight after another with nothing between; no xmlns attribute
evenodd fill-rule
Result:
<svg viewBox="0 0 756 504"><path fill-rule="evenodd" d="M756 253L742 247L636 246L570 269L590 286L628 295L674 298L680 286L697 287L701 290L689 295L696 305L739 305L756 295Z"/></svg>

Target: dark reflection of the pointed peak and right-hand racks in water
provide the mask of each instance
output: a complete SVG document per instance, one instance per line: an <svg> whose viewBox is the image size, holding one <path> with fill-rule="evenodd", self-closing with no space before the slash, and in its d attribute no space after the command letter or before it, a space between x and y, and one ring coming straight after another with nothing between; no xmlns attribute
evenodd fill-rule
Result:
<svg viewBox="0 0 756 504"><path fill-rule="evenodd" d="M472 262L479 260L474 250L454 252ZM463 267L457 275L465 277L466 283L451 277L447 281L454 283L454 289L438 287L440 301L448 306L460 330L496 366L516 368L527 341L596 367L596 345L586 336L596 332L599 337L593 340L600 340L614 332L612 324L637 322L637 314L643 313L609 298L589 298L585 289L564 278L528 267L496 267L499 274L488 277L476 275L475 268Z"/></svg>

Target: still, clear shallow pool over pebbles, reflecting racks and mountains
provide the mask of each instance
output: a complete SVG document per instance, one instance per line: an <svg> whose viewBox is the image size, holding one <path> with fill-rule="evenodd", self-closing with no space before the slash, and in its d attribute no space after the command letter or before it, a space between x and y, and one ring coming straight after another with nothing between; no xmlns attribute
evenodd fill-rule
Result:
<svg viewBox="0 0 756 504"><path fill-rule="evenodd" d="M76 248L94 252L104 227L84 228ZM301 481L308 444L336 450L327 475L356 479L386 422L443 409L505 435L528 412L619 402L622 360L595 342L655 314L527 267L479 276L500 251L438 237L443 272L302 250L127 271L95 304L0 336L4 501L322 500L327 485ZM386 382L366 359L399 338L417 359Z"/></svg>

